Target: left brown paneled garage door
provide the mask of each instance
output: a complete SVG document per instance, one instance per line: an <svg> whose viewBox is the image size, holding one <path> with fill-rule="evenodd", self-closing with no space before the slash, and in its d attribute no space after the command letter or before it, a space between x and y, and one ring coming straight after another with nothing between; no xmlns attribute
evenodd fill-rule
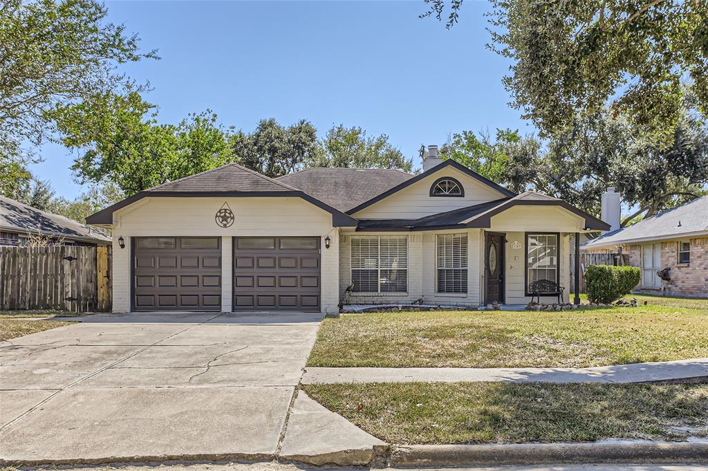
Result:
<svg viewBox="0 0 708 471"><path fill-rule="evenodd" d="M220 311L220 237L136 237L133 310Z"/></svg>

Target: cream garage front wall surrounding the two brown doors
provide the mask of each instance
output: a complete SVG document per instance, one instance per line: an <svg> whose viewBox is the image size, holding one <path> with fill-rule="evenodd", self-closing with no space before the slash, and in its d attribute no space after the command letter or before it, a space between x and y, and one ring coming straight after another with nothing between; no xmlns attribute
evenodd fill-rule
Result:
<svg viewBox="0 0 708 471"><path fill-rule="evenodd" d="M232 227L219 227L214 219L224 201L236 216ZM231 309L232 237L321 237L321 307L337 311L338 230L329 212L300 198L147 198L115 212L113 219L114 312L130 310L130 237L143 236L221 236L222 310ZM325 249L328 234L331 246ZM125 249L118 246L121 236Z"/></svg>

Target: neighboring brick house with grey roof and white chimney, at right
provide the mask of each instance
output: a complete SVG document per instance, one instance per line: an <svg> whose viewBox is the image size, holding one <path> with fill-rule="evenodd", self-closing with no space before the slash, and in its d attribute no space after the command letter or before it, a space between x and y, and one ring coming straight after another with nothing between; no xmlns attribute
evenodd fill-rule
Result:
<svg viewBox="0 0 708 471"><path fill-rule="evenodd" d="M603 211L607 222L616 221L615 230L583 244L584 251L627 254L629 264L641 268L636 293L708 297L708 196L622 229L619 195L610 201L603 200Z"/></svg>

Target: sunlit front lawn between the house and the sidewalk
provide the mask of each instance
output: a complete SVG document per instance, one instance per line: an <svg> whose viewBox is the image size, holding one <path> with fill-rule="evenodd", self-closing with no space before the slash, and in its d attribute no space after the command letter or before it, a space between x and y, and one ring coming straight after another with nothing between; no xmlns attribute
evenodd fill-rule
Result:
<svg viewBox="0 0 708 471"><path fill-rule="evenodd" d="M324 319L309 366L574 367L708 357L708 312L378 312Z"/></svg>

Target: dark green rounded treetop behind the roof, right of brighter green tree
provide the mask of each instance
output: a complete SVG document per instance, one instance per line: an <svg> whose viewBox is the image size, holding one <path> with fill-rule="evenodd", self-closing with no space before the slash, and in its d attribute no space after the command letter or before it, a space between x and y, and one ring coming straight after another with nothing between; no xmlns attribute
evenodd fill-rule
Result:
<svg viewBox="0 0 708 471"><path fill-rule="evenodd" d="M261 120L250 134L234 139L234 154L239 162L265 176L289 174L313 161L318 152L317 130L307 120L288 127L275 118Z"/></svg>

